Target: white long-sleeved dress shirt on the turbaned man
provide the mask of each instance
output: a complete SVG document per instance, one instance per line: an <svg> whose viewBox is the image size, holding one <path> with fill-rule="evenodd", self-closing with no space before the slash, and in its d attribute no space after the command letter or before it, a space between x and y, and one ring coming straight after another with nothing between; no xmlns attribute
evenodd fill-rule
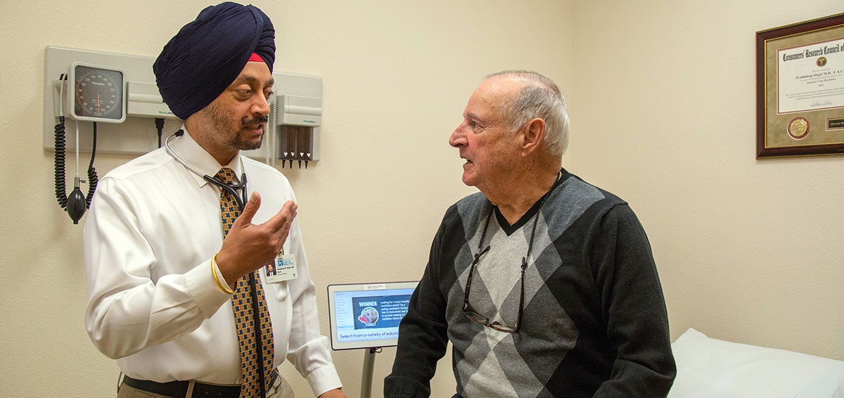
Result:
<svg viewBox="0 0 844 398"><path fill-rule="evenodd" d="M205 175L222 167L190 134L170 148ZM235 156L247 197L261 194L252 223L295 201L288 180L266 164ZM231 295L214 282L211 257L223 244L219 188L159 148L113 169L97 187L84 228L88 308L95 346L124 374L157 382L241 380ZM327 338L319 330L314 285L294 219L284 253L298 277L269 283L260 272L275 342L274 366L289 359L315 395L340 387ZM228 281L233 282L233 281Z"/></svg>

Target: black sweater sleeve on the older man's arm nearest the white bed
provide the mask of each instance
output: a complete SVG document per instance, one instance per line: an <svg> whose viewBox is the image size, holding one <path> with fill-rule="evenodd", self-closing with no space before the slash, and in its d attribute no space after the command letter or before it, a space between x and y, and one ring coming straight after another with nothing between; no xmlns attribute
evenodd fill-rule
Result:
<svg viewBox="0 0 844 398"><path fill-rule="evenodd" d="M603 217L592 247L607 336L618 352L596 397L668 395L677 373L651 245L626 204Z"/></svg>

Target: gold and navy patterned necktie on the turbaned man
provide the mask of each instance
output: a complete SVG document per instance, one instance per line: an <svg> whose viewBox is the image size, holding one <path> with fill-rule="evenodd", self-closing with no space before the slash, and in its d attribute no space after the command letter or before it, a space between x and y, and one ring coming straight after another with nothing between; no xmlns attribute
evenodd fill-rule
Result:
<svg viewBox="0 0 844 398"><path fill-rule="evenodd" d="M235 181L235 172L232 169L224 167L219 170L215 177L226 184L232 184ZM220 191L219 212L223 219L223 236L225 239L225 236L229 234L231 224L235 223L235 218L241 214L241 210L237 208L235 196L232 196L229 192ZM252 310L252 294L249 289L249 275L246 274L237 281L235 294L231 297L232 308L235 312L235 325L237 325L237 342L241 350L242 398L258 397L261 394L258 374L261 372L262 366L258 362L255 317L252 315L254 312ZM267 300L264 298L258 272L252 272L252 275L255 276L255 281L257 282L255 288L257 290L257 306L261 323L260 338L264 362L264 383L266 384L269 383L269 376L273 372L273 324L269 319Z"/></svg>

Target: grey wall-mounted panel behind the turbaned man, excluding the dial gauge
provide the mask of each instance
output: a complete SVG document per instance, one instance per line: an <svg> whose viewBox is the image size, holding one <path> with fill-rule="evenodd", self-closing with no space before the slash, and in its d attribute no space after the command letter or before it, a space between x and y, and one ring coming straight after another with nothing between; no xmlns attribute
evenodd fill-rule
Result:
<svg viewBox="0 0 844 398"><path fill-rule="evenodd" d="M58 116L66 116L66 150L89 153L93 143L92 119L71 114L72 91L75 89L62 74L70 75L74 64L93 65L118 70L125 82L125 120L119 123L97 123L98 153L143 154L159 147L155 119L164 119L164 138L181 128L181 120L164 104L155 85L152 56L133 56L103 51L89 51L47 46L44 62L44 148L55 150ZM322 78L296 73L273 73L275 100L264 135L262 148L245 151L252 158L275 164L282 159L296 164L320 159L320 126L322 125ZM62 98L63 97L63 98ZM78 137L76 131L78 129ZM284 148L283 148L284 144Z"/></svg>

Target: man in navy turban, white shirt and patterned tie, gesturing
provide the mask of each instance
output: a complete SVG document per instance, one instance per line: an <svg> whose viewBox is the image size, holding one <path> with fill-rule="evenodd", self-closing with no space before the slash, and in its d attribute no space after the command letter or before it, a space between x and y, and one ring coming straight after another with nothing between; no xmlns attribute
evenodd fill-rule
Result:
<svg viewBox="0 0 844 398"><path fill-rule="evenodd" d="M346 396L319 331L294 193L240 153L261 145L274 59L268 16L222 3L154 63L181 134L106 175L84 229L85 325L124 374L118 397L293 396L276 370L285 358L314 395ZM219 186L247 176L241 212ZM268 282L283 256L297 277Z"/></svg>

